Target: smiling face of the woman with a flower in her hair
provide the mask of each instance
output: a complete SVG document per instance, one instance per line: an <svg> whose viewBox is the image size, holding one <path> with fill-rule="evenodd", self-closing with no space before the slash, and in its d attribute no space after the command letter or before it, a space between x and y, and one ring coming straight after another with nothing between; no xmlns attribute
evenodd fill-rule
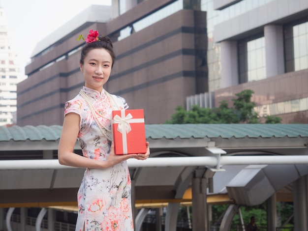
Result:
<svg viewBox="0 0 308 231"><path fill-rule="evenodd" d="M84 74L85 86L101 92L103 85L108 81L112 66L112 58L104 48L95 48L89 51L80 63L80 70Z"/></svg>

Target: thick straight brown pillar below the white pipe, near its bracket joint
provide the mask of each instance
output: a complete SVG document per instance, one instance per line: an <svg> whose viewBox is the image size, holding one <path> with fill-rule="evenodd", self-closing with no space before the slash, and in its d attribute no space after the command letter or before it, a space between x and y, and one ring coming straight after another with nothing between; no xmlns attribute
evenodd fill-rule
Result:
<svg viewBox="0 0 308 231"><path fill-rule="evenodd" d="M191 180L192 190L192 231L208 231L207 214L207 179L194 177Z"/></svg>

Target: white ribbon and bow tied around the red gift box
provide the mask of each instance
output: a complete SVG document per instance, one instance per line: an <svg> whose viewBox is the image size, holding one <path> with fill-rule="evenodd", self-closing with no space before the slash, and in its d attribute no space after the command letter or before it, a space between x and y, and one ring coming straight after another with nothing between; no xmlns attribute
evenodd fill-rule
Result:
<svg viewBox="0 0 308 231"><path fill-rule="evenodd" d="M130 123L144 123L144 118L134 119L130 113L125 116L125 110L121 110L121 117L115 115L113 117L113 123L119 124L117 130L122 133L123 154L127 154L126 134L131 131Z"/></svg>

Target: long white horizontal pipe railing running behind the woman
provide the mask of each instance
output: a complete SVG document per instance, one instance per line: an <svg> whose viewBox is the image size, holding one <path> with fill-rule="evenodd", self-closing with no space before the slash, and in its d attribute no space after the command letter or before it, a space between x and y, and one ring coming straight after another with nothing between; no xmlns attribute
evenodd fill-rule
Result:
<svg viewBox="0 0 308 231"><path fill-rule="evenodd" d="M221 156L220 165L282 165L308 164L308 155L259 155L259 156ZM153 157L147 160L128 159L128 167L180 167L207 166L216 167L215 156L197 157ZM0 170L33 170L33 169L71 169L74 167L60 165L57 159L43 160L1 160Z"/></svg>

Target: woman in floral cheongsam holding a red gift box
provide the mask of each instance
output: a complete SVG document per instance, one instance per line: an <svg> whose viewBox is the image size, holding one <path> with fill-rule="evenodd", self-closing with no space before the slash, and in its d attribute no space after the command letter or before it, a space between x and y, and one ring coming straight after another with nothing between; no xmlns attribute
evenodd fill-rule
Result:
<svg viewBox="0 0 308 231"><path fill-rule="evenodd" d="M111 112L127 109L122 97L106 92L115 61L113 45L106 36L90 30L81 51L80 70L85 86L65 103L59 163L86 168L77 194L76 231L133 231L131 181L126 160L145 160L145 154L115 155L111 135ZM74 153L77 138L83 156Z"/></svg>

